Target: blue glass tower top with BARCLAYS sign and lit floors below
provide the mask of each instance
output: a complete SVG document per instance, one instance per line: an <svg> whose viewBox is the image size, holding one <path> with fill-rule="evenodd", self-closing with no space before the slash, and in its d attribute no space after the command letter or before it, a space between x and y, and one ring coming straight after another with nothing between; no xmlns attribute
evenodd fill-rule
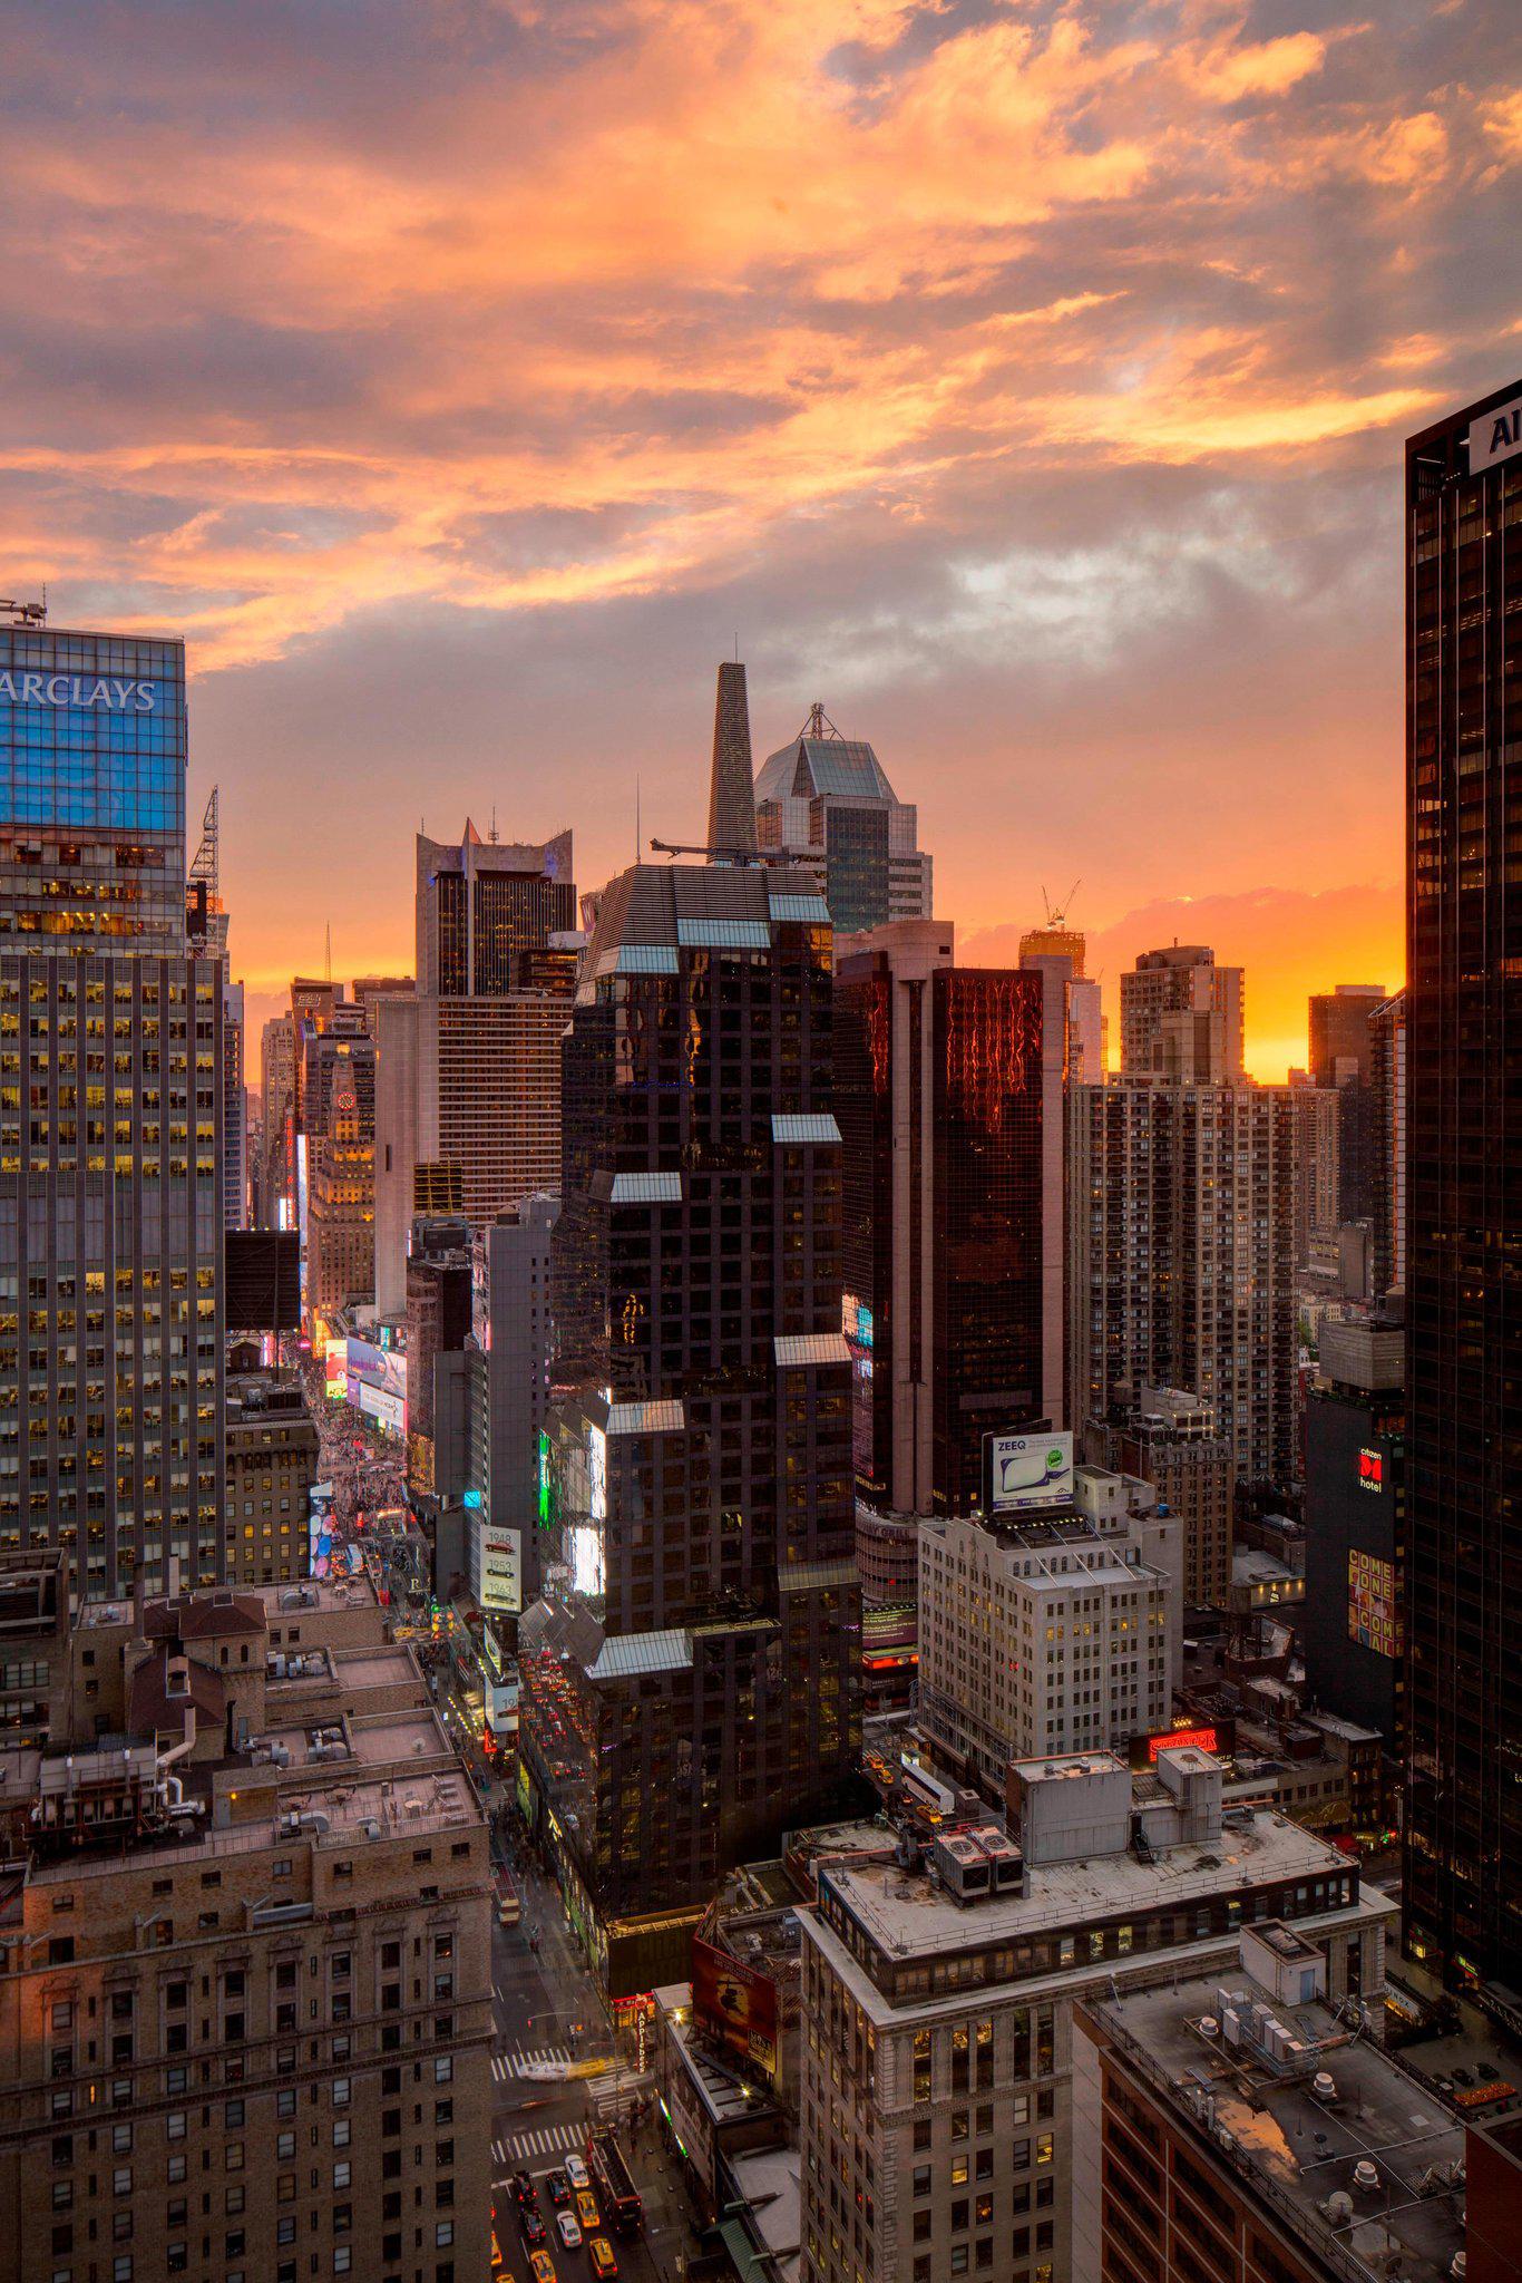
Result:
<svg viewBox="0 0 1522 2283"><path fill-rule="evenodd" d="M185 644L0 626L5 934L185 925Z"/></svg>

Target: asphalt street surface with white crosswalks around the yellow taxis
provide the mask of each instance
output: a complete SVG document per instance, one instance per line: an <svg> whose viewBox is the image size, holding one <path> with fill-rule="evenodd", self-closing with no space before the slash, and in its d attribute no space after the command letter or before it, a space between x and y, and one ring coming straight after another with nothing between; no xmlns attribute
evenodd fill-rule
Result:
<svg viewBox="0 0 1522 2283"><path fill-rule="evenodd" d="M584 2283L591 2276L586 2251L564 2251L554 2242L554 2208L545 2192L545 2176L561 2167L568 2153L586 2153L586 2137L596 2123L598 2084L605 2084L607 2078L554 2082L525 2071L596 2057L612 2059L616 2041L566 1931L554 1881L536 1867L516 1870L513 1879L523 1895L523 1920L518 1927L497 1927L493 1934L497 2052L493 2057L491 2153L497 2244L504 2272L513 2276L513 2283L525 2283L527 2246L509 2183L513 2173L527 2171L536 2187L536 2210L550 2235L545 2249L557 2274L566 2276L568 2283ZM539 1954L529 1947L529 1936L539 1941ZM605 2226L618 2274L634 2278L634 2283L678 2283L696 2240L687 2226L687 2196L678 2164L662 2144L653 2105L637 2130L618 2128L618 2141L646 2205L646 2226L639 2237L618 2237Z"/></svg>

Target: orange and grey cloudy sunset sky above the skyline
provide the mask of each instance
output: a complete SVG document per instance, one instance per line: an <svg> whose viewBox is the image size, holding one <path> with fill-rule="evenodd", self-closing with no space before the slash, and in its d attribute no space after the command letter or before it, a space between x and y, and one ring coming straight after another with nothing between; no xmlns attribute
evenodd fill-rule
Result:
<svg viewBox="0 0 1522 2283"><path fill-rule="evenodd" d="M183 632L251 1016L411 836L698 838L735 637L970 959L1401 975L1408 429L1522 370L1504 0L0 5L0 587Z"/></svg>

